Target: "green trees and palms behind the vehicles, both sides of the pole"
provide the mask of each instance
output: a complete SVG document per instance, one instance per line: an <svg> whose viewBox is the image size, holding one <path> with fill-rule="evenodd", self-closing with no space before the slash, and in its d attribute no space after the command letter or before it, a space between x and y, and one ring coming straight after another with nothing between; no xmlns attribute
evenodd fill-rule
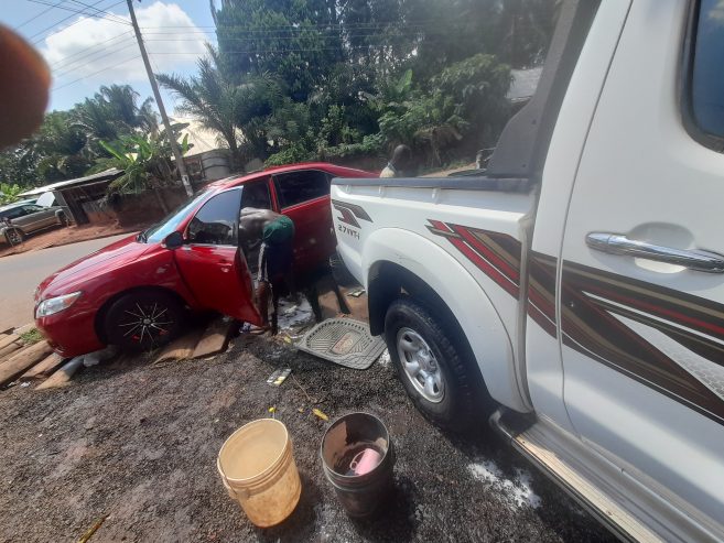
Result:
<svg viewBox="0 0 724 543"><path fill-rule="evenodd" d="M407 143L424 164L494 144L510 69L542 62L560 0L218 0L218 48L192 77L158 75L179 110L247 161L387 155ZM150 99L110 85L48 113L0 152L0 182L26 187L121 164L158 134ZM126 159L100 142L109 142ZM165 183L128 163L120 189ZM161 164L159 162L158 164ZM147 167L148 166L148 167ZM133 170L136 169L136 170Z"/></svg>

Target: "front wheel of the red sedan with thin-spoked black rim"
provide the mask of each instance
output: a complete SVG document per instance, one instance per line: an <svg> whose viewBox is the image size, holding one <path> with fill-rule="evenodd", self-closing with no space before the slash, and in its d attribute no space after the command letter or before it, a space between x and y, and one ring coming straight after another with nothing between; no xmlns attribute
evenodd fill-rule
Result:
<svg viewBox="0 0 724 543"><path fill-rule="evenodd" d="M110 345L125 351L152 350L176 338L185 322L184 307L163 292L137 292L117 300L106 313Z"/></svg>

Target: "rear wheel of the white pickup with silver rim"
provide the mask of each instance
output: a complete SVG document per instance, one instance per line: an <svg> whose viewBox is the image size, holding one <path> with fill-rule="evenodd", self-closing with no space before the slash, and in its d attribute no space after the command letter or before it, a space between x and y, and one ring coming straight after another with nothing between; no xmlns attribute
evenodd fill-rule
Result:
<svg viewBox="0 0 724 543"><path fill-rule="evenodd" d="M455 345L450 323L440 323L423 305L399 298L385 317L385 340L398 377L418 410L433 424L467 430L475 409L479 376Z"/></svg>

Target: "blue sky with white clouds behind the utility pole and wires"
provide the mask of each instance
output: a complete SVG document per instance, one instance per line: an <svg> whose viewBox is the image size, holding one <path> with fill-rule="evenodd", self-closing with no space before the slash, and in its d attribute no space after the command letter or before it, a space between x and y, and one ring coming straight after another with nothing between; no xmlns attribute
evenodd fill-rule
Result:
<svg viewBox="0 0 724 543"><path fill-rule="evenodd" d="M195 73L204 42L216 41L208 0L134 0L133 7L154 70ZM141 99L152 96L125 0L13 0L3 8L0 22L33 43L51 66L48 110L69 109L101 85L128 84ZM172 113L173 96L161 93Z"/></svg>

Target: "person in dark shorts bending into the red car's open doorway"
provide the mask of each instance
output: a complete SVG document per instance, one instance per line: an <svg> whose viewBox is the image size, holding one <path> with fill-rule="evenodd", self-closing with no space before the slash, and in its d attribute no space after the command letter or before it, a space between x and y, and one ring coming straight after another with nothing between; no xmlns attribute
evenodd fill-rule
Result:
<svg viewBox="0 0 724 543"><path fill-rule="evenodd" d="M261 327L255 334L279 332L279 293L287 284L293 291L294 222L285 215L270 209L245 207L239 217L239 237L248 242L261 241L257 275L257 305L261 312ZM269 324L269 290L273 313Z"/></svg>

